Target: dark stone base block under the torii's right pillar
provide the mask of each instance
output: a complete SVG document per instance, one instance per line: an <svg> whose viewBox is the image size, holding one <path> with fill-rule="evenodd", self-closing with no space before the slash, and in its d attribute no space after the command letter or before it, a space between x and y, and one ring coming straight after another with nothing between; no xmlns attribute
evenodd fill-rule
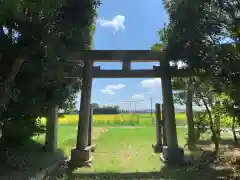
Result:
<svg viewBox="0 0 240 180"><path fill-rule="evenodd" d="M169 165L181 165L185 163L183 148L171 148L163 146L163 155L161 159Z"/></svg>

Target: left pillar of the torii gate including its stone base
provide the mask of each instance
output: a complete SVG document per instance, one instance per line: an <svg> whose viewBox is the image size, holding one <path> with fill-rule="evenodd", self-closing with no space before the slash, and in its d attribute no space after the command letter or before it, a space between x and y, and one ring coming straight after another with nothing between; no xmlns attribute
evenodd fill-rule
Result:
<svg viewBox="0 0 240 180"><path fill-rule="evenodd" d="M76 148L71 152L70 163L75 167L90 166L92 162L91 149L89 146L89 119L91 116L91 91L92 91L93 60L84 60L82 91L79 111Z"/></svg>

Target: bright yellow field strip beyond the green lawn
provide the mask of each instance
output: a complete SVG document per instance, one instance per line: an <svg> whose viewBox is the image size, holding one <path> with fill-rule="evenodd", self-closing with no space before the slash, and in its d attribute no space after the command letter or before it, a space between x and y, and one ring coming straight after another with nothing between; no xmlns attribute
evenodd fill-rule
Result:
<svg viewBox="0 0 240 180"><path fill-rule="evenodd" d="M93 115L94 125L152 125L155 119L153 114L113 114L113 115ZM177 125L185 124L186 114L176 113ZM42 118L42 123L45 123L46 119ZM78 114L66 114L59 117L59 124L76 125L78 122Z"/></svg>

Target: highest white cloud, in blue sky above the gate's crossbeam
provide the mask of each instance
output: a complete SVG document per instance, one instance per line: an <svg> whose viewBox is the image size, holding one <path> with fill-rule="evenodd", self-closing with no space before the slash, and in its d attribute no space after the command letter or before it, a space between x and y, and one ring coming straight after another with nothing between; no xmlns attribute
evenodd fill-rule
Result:
<svg viewBox="0 0 240 180"><path fill-rule="evenodd" d="M99 23L100 26L114 28L113 33L118 32L120 29L124 30L125 29L124 22L125 16L122 15L117 15L112 20L106 20L101 18L97 20L97 23Z"/></svg>

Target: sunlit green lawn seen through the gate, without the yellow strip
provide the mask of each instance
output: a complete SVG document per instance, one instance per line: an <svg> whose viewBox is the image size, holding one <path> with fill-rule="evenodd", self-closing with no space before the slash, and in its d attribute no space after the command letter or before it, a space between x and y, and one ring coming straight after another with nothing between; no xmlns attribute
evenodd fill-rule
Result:
<svg viewBox="0 0 240 180"><path fill-rule="evenodd" d="M180 145L184 145L185 128L178 128ZM149 172L159 171L163 165L159 155L153 152L155 144L154 127L94 127L93 143L97 144L93 153L91 168L78 172ZM77 129L72 125L60 125L58 145L67 156L76 145ZM43 142L43 137L38 141Z"/></svg>

